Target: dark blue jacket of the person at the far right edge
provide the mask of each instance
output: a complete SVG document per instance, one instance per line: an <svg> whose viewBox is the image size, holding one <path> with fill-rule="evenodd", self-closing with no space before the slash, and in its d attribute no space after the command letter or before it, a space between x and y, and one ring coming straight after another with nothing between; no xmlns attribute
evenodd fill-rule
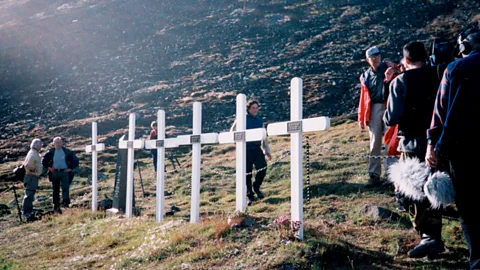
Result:
<svg viewBox="0 0 480 270"><path fill-rule="evenodd" d="M465 158L480 151L475 139L480 103L480 49L450 63L440 83L427 138L449 158Z"/></svg>

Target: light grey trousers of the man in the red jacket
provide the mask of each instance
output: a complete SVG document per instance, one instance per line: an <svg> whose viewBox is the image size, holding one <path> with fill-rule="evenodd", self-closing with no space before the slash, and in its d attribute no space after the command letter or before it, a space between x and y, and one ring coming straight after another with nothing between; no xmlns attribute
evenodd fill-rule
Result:
<svg viewBox="0 0 480 270"><path fill-rule="evenodd" d="M382 154L383 134L386 127L383 122L383 114L385 113L385 104L372 104L370 109L370 121L368 122L368 131L370 135L370 156L377 158L368 159L368 174L380 177L382 175L382 158L378 158ZM384 167L387 168L387 159L384 159Z"/></svg>

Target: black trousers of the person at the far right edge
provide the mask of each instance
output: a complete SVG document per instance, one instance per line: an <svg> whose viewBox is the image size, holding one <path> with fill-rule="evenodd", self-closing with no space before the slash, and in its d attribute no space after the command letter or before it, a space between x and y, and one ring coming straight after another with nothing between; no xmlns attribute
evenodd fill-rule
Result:
<svg viewBox="0 0 480 270"><path fill-rule="evenodd" d="M452 184L455 189L465 242L470 253L470 269L480 269L480 222L478 221L478 195L480 177L475 157L450 159Z"/></svg>

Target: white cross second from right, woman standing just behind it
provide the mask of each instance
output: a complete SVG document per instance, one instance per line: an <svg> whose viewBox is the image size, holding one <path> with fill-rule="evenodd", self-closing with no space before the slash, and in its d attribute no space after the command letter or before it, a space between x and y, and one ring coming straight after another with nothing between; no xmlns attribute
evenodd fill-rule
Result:
<svg viewBox="0 0 480 270"><path fill-rule="evenodd" d="M247 130L246 120L246 96L237 95L237 120L235 132L222 132L218 135L218 142L236 144L236 210L244 212L247 208L246 202L246 175L247 175L247 143L253 141L263 141L267 137L265 128L255 128Z"/></svg>

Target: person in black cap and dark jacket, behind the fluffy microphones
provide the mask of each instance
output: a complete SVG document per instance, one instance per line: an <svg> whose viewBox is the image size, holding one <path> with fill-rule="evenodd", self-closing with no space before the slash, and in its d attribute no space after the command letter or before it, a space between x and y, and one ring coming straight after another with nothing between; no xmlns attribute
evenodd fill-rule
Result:
<svg viewBox="0 0 480 270"><path fill-rule="evenodd" d="M422 42L412 41L403 47L405 71L392 80L388 106L383 117L389 127L398 127L400 138L397 150L401 159L425 159L426 131L430 126L433 105L440 81L437 70L427 67L427 52ZM426 179L425 179L426 180ZM406 181L406 179L405 179ZM442 241L442 213L430 207L428 199L414 201L402 196L395 187L395 195L408 210L414 229L421 236L420 243L408 252L412 258L435 256L445 251Z"/></svg>

